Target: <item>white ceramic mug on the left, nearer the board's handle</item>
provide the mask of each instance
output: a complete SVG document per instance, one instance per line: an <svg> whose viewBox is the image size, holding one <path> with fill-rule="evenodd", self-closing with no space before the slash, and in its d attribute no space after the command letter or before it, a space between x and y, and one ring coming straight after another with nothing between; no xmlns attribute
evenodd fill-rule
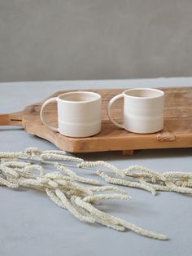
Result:
<svg viewBox="0 0 192 256"><path fill-rule="evenodd" d="M43 117L47 104L57 102L59 127L51 126ZM72 91L47 99L41 106L41 121L50 130L69 137L89 137L101 130L101 95L89 91Z"/></svg>

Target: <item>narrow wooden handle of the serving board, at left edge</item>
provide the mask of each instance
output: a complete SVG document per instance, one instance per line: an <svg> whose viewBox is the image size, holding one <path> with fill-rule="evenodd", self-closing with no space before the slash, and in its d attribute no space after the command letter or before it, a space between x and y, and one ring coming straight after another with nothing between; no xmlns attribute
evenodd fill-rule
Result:
<svg viewBox="0 0 192 256"><path fill-rule="evenodd" d="M0 126L23 126L23 111L0 114Z"/></svg>

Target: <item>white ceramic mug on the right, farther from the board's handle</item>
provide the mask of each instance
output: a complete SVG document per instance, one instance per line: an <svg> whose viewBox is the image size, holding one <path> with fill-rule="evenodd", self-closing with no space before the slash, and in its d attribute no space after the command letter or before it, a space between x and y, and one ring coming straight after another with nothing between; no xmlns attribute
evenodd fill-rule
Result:
<svg viewBox="0 0 192 256"><path fill-rule="evenodd" d="M111 105L124 98L124 121L119 124L111 117ZM107 114L120 128L139 134L155 133L164 128L164 91L151 88L124 90L107 105Z"/></svg>

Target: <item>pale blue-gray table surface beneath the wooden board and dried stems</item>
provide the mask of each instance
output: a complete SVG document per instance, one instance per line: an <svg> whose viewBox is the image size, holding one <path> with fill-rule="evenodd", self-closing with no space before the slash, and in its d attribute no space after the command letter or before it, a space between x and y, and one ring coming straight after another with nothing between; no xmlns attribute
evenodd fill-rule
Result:
<svg viewBox="0 0 192 256"><path fill-rule="evenodd" d="M136 86L192 86L192 78L0 83L0 113L20 111L57 90ZM0 127L0 151L19 151L32 146L56 149L20 127ZM109 161L121 168L138 164L159 171L192 171L191 148L142 150L133 157L123 157L120 152L76 156ZM125 189L132 201L103 201L99 207L163 233L171 238L170 241L155 241L133 232L115 232L107 227L81 223L43 193L0 188L0 255L192 255L191 196L174 192L151 196L142 190Z"/></svg>

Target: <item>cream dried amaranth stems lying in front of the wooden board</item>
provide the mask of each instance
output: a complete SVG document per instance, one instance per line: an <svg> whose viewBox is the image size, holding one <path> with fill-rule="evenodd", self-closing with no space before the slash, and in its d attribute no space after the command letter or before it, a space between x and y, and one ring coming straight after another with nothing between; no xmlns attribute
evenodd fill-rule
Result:
<svg viewBox="0 0 192 256"><path fill-rule="evenodd" d="M53 165L55 170L46 172L46 164ZM105 161L84 161L69 157L63 151L40 151L38 148L27 148L24 152L0 152L0 185L46 192L56 205L69 210L76 218L87 223L100 223L121 232L129 229L142 236L168 240L167 236L98 210L95 205L103 199L129 200L130 197L125 195L122 188L103 186L97 179L83 177L71 168L94 170L107 183L144 189L153 195L158 190L184 193L192 191L191 173L158 173L142 166L120 170ZM114 175L108 174L107 170L111 170Z"/></svg>

